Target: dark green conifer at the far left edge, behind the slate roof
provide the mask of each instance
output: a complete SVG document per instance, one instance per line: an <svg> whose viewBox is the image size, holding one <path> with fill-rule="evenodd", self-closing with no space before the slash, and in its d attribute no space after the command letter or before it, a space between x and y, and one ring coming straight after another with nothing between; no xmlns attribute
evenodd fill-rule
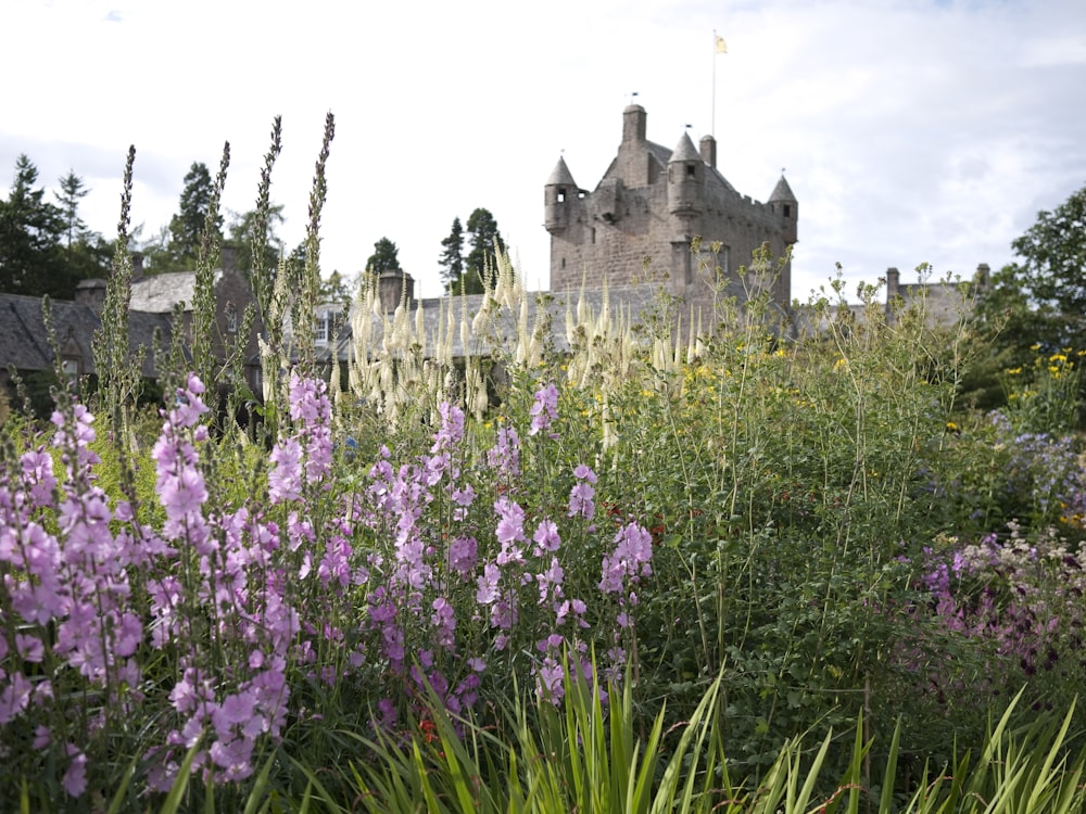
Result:
<svg viewBox="0 0 1086 814"><path fill-rule="evenodd" d="M38 168L24 154L15 162L15 180L0 202L0 290L14 294L49 294L71 300L74 282L62 253L64 215L35 188Z"/></svg>

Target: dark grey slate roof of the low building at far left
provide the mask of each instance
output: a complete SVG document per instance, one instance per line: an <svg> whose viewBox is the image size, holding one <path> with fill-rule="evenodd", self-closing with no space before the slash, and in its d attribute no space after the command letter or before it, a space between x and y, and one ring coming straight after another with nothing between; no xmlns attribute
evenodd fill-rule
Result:
<svg viewBox="0 0 1086 814"><path fill-rule="evenodd" d="M0 369L13 365L20 370L48 370L53 366L42 314L41 297L0 294ZM64 300L50 301L53 330L62 347L74 342L84 360L85 372L93 372L91 342L102 322L89 305ZM132 348L143 345L143 374L153 376L150 348L155 329L163 343L169 341L169 320L157 314L129 314L129 342Z"/></svg>

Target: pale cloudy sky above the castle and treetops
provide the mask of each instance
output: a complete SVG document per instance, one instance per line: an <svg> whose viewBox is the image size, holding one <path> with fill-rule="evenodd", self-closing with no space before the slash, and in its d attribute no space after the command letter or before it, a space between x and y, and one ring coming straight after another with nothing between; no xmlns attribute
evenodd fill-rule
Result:
<svg viewBox="0 0 1086 814"><path fill-rule="evenodd" d="M74 170L108 238L130 144L146 238L225 142L223 205L252 209L281 116L272 199L295 245L331 112L323 272L387 237L416 296L440 295L441 241L477 207L546 289L543 185L564 157L594 189L631 101L669 149L712 133L743 194L783 170L800 301L837 264L846 291L889 266L998 269L1086 186L1083 0L2 0L0 77L0 194L22 153L49 190Z"/></svg>

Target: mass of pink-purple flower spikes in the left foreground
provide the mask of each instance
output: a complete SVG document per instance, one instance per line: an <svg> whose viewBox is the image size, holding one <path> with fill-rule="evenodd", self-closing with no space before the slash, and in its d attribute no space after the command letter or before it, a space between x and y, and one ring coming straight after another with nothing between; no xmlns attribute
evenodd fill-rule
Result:
<svg viewBox="0 0 1086 814"><path fill-rule="evenodd" d="M361 485L337 484L326 386L294 374L267 491L229 505L206 480L203 395L191 376L162 412L159 527L97 485L81 405L53 418L63 475L45 447L0 473L0 761L16 756L5 745L33 742L18 771L58 766L78 797L111 733L136 717L151 733L149 787L168 788L193 747L193 772L240 781L288 712L319 716L295 700L299 682L353 683L394 727L431 691L454 713L475 705L488 672L518 669L525 652L556 702L567 664L591 678L591 643L618 658L651 539L630 523L604 557L595 599L617 601L617 616L570 589L583 569L564 537L594 533L588 466L565 475L568 506L554 516L526 498L516 429L476 458L463 410L443 404L426 453L396 463L382 448ZM531 434L555 436L557 399L553 384L536 393ZM568 519L582 522L564 530ZM591 592L593 577L577 584Z"/></svg>

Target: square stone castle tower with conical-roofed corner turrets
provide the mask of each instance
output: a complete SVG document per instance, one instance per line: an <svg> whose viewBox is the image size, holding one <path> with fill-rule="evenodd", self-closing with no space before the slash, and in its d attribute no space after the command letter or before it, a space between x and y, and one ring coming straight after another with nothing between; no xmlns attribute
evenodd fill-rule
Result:
<svg viewBox="0 0 1086 814"><path fill-rule="evenodd" d="M606 279L629 285L649 274L667 279L672 293L697 301L709 294L711 269L728 282L749 265L763 242L774 257L797 240L799 204L781 177L767 203L741 195L717 169L717 142L705 136L700 150L683 132L675 149L648 141L645 109L622 112L622 143L592 192L580 189L564 158L545 185L546 230L551 233L551 289L590 288ZM700 256L691 241L702 238ZM721 251L709 250L719 241ZM791 305L792 268L773 285L781 307Z"/></svg>

